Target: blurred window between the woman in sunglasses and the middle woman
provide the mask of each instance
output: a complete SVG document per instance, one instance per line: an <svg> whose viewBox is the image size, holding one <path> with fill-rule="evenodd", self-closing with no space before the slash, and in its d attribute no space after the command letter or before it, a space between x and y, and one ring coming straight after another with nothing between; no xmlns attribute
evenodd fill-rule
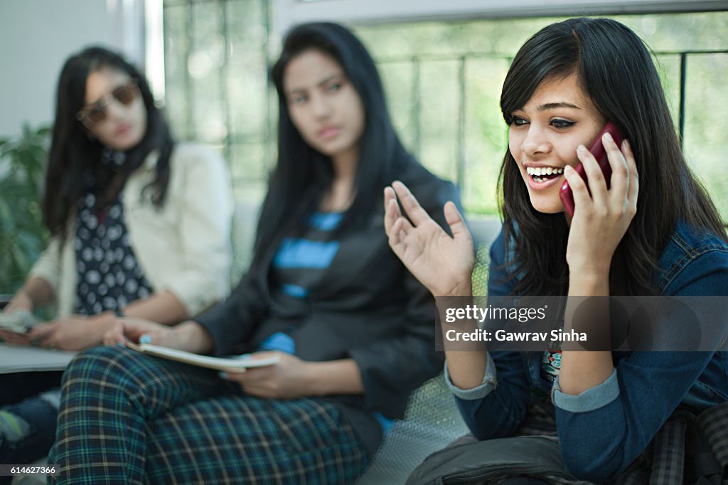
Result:
<svg viewBox="0 0 728 485"><path fill-rule="evenodd" d="M273 159L266 0L165 0L165 98L175 137L219 149L235 195L260 200Z"/></svg>

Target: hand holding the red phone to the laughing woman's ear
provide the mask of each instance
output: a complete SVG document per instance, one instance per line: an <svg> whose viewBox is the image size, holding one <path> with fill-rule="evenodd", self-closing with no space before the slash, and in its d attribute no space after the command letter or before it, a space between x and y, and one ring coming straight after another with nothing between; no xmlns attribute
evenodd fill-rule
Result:
<svg viewBox="0 0 728 485"><path fill-rule="evenodd" d="M584 165L589 189L576 170L564 170L574 192L566 262L571 275L580 277L609 275L614 250L637 213L639 184L630 144L623 141L620 150L609 133L602 137L602 143L612 166L609 189L598 162L584 146L577 149L577 157Z"/></svg>

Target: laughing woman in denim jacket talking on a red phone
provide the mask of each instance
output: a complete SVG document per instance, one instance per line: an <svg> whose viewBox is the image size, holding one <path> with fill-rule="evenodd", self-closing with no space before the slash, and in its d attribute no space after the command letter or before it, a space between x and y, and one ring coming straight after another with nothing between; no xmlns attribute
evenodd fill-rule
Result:
<svg viewBox="0 0 728 485"><path fill-rule="evenodd" d="M633 31L609 19L548 25L515 56L501 108L509 146L489 296L728 294L724 226L686 163L660 76ZM585 148L607 122L625 136L620 146L602 138L609 188ZM563 181L573 218L559 197ZM471 295L472 241L454 205L445 205L449 237L403 184L386 189L385 201L389 244L413 274L436 296ZM566 470L590 481L619 476L678 405L698 412L728 398L725 352L565 350L560 368L548 357L446 352L446 374L480 440L514 435L529 403L550 397Z"/></svg>

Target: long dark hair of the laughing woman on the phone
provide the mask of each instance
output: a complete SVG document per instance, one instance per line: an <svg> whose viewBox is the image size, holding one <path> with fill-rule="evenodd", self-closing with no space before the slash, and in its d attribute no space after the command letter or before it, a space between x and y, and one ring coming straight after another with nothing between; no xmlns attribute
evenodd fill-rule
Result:
<svg viewBox="0 0 728 485"><path fill-rule="evenodd" d="M649 51L636 33L615 20L564 20L526 41L503 84L500 104L506 123L541 82L570 74L577 74L596 108L629 139L637 163L637 215L614 253L610 294L654 294L652 275L678 217L725 240L724 227L685 162ZM566 294L566 219L531 206L510 151L503 159L499 195L507 247L515 249L510 273L519 275L514 293Z"/></svg>

